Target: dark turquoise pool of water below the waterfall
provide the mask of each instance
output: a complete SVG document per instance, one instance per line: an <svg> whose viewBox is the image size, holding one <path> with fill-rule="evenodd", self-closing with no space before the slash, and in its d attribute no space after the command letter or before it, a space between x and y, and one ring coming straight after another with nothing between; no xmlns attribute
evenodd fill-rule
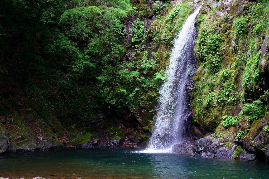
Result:
<svg viewBox="0 0 269 179"><path fill-rule="evenodd" d="M8 178L266 178L269 165L131 149L67 149L0 156L0 177Z"/></svg>

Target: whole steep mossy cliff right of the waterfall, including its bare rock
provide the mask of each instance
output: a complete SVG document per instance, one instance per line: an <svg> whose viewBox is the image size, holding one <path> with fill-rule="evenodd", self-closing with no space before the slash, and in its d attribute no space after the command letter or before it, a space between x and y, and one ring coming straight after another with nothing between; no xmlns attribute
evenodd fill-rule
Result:
<svg viewBox="0 0 269 179"><path fill-rule="evenodd" d="M261 160L269 156L268 23L268 1L205 2L197 17L191 103L202 133Z"/></svg>

